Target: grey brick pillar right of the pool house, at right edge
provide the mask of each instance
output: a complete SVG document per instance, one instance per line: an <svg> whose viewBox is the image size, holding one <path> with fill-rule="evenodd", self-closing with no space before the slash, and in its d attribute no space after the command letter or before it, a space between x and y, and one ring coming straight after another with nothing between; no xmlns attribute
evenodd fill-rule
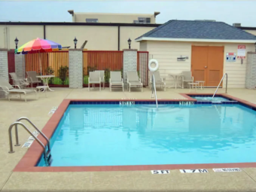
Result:
<svg viewBox="0 0 256 192"><path fill-rule="evenodd" d="M256 88L256 52L247 53L245 88L247 89Z"/></svg>

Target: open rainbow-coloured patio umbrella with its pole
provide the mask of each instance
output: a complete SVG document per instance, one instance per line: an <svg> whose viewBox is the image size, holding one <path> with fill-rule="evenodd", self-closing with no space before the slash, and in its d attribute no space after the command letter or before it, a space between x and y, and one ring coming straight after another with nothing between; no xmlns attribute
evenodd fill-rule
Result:
<svg viewBox="0 0 256 192"><path fill-rule="evenodd" d="M62 46L60 44L57 44L56 42L47 39L36 38L17 48L17 50L15 50L15 53L45 53L52 52L53 50L59 50L61 48ZM39 59L39 62L41 72L41 58Z"/></svg>

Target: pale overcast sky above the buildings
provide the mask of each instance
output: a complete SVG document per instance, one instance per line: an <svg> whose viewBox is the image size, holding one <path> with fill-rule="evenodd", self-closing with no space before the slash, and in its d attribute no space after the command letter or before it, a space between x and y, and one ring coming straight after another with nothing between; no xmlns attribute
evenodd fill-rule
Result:
<svg viewBox="0 0 256 192"><path fill-rule="evenodd" d="M256 26L255 2L1 2L0 21L72 22L67 12L154 14L157 23L168 20L217 20Z"/></svg>

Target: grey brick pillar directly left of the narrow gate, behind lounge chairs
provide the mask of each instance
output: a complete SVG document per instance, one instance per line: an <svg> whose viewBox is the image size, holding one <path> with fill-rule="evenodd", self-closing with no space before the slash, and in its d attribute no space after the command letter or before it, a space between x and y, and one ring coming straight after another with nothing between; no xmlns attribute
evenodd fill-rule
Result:
<svg viewBox="0 0 256 192"><path fill-rule="evenodd" d="M137 71L137 50L123 50L123 84L127 86L127 72Z"/></svg>

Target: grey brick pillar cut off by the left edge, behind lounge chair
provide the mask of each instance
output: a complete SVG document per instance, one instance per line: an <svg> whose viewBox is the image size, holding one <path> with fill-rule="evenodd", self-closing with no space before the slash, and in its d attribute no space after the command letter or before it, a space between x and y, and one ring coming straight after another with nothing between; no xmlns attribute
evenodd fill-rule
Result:
<svg viewBox="0 0 256 192"><path fill-rule="evenodd" d="M8 50L0 49L0 77L9 81L8 77ZM6 93L0 88L0 98L5 98Z"/></svg>

